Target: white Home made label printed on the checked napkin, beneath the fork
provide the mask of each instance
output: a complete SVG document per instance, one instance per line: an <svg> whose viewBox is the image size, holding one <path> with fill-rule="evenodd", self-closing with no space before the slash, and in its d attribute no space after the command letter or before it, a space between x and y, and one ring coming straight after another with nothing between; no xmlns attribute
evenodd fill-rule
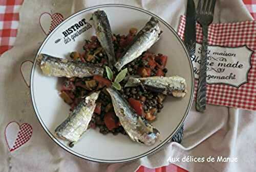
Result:
<svg viewBox="0 0 256 172"><path fill-rule="evenodd" d="M199 78L202 45L196 44L196 53L191 57L195 78ZM208 46L207 84L227 84L240 87L247 82L253 51L246 45L239 47Z"/></svg>

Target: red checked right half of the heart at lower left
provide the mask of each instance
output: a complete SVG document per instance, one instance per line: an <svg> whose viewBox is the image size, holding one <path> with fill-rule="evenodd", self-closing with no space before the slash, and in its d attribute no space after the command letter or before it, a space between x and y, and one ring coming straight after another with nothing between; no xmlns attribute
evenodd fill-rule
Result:
<svg viewBox="0 0 256 172"><path fill-rule="evenodd" d="M10 148L10 152L16 150L17 148L22 146L24 143L26 143L32 136L32 132L33 132L32 127L29 124L25 123L22 126L20 126L18 136L14 142L14 145L12 146L12 148Z"/></svg>

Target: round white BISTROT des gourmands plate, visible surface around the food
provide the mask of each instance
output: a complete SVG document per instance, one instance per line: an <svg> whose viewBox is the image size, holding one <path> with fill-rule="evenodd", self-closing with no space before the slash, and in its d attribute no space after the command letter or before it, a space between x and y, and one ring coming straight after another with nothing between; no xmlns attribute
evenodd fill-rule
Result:
<svg viewBox="0 0 256 172"><path fill-rule="evenodd" d="M132 27L142 28L151 16L157 17L161 23L163 33L160 40L150 51L162 53L169 57L167 62L168 76L179 75L185 78L188 93L183 99L168 97L164 102L164 108L153 123L160 131L160 138L154 145L146 146L133 142L127 135L102 135L98 130L89 129L73 148L69 148L66 141L56 138L54 135L55 128L67 118L70 108L58 95L61 79L42 75L35 62L31 72L32 103L42 127L63 149L78 157L95 162L129 162L159 150L183 125L193 101L193 67L185 45L168 23L148 11L125 5L95 6L70 16L51 32L44 43L42 43L38 54L45 53L60 58L67 58L70 52L82 52L84 40L90 39L92 35L95 35L94 28L92 27L83 32L75 38L75 41L71 39L67 44L64 43L62 32L83 18L93 25L90 18L92 13L98 9L106 12L110 20L112 32L116 34L127 34ZM71 35L69 35L70 38ZM56 41L58 39L60 41Z"/></svg>

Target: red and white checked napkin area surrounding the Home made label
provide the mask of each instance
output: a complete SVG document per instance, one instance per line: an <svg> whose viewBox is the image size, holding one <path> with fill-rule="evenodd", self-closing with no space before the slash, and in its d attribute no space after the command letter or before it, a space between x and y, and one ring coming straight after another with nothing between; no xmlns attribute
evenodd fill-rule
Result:
<svg viewBox="0 0 256 172"><path fill-rule="evenodd" d="M185 16L181 16L178 34L183 39ZM246 34L244 34L246 33ZM242 21L236 23L210 24L208 31L209 45L236 47L247 45L250 50L256 50L256 21ZM197 42L202 43L203 34L197 23ZM196 81L197 87L197 81ZM251 69L248 82L239 88L224 84L207 84L207 103L256 110L256 53L251 56Z"/></svg>

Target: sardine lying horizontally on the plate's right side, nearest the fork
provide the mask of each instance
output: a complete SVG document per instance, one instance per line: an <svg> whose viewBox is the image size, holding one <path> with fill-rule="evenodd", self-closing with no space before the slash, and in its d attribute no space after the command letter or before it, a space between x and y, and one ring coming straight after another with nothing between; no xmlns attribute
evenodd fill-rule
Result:
<svg viewBox="0 0 256 172"><path fill-rule="evenodd" d="M173 77L130 77L125 87L135 87L143 85L146 89L163 94L173 94L175 97L184 97L186 90L186 81L179 76Z"/></svg>

